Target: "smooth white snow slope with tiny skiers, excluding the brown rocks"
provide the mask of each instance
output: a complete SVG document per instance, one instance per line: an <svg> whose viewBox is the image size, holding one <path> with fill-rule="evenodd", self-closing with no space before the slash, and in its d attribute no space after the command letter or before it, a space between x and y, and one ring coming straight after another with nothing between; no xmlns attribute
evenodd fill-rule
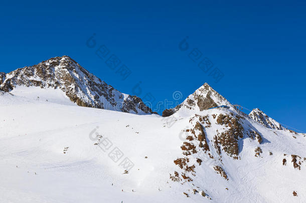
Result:
<svg viewBox="0 0 306 203"><path fill-rule="evenodd" d="M262 157L254 156L258 143L244 138L240 160L223 155L229 180L203 163L193 182L181 184L169 176L180 170L174 160L182 157L182 129L190 116L176 113L170 125L159 115L79 107L54 97L0 95L0 202L305 202L305 163L301 170L290 159L282 165L284 153L306 157L301 134L292 138L250 121L264 137ZM96 133L108 138L109 149L94 145ZM212 140L213 132L207 134ZM109 157L115 148L123 154L117 162ZM126 157L134 166L122 174ZM208 196L192 194L192 184Z"/></svg>

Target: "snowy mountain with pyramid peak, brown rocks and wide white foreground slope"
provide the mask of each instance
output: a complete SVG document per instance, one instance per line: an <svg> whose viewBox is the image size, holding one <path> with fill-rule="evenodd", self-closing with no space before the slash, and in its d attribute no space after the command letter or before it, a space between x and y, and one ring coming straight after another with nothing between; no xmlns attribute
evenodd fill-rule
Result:
<svg viewBox="0 0 306 203"><path fill-rule="evenodd" d="M48 102L33 87L0 94L4 202L306 199L306 135L237 111L208 84L164 117L53 102L66 95L43 90Z"/></svg>

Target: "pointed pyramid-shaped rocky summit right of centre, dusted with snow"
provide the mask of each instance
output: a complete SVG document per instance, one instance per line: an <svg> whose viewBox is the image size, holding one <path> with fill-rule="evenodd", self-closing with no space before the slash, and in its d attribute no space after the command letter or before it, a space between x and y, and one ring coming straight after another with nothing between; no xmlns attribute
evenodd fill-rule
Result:
<svg viewBox="0 0 306 203"><path fill-rule="evenodd" d="M230 102L216 92L211 86L205 83L193 94L189 95L187 99L185 99L184 102L178 106L175 108L166 109L163 112L163 116L170 116L182 109L197 113L220 105L232 107Z"/></svg>

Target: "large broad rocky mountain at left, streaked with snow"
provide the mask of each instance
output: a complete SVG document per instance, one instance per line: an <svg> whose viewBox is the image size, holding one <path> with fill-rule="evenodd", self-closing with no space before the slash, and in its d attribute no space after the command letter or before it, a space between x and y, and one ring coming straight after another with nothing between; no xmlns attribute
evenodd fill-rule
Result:
<svg viewBox="0 0 306 203"><path fill-rule="evenodd" d="M8 74L0 73L0 90L10 92L16 86L60 89L72 102L84 107L152 113L140 98L122 94L68 56L51 58Z"/></svg>

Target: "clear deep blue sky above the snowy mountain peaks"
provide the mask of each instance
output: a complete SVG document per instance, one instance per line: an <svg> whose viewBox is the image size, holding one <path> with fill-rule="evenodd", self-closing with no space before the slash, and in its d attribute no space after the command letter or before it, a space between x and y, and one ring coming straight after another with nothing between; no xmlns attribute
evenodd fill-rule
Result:
<svg viewBox="0 0 306 203"><path fill-rule="evenodd" d="M156 101L181 91L181 102L207 82L231 103L306 131L305 11L305 1L5 1L0 71L68 55L121 92L133 94L141 81L137 96ZM88 48L93 33L96 47ZM101 45L128 78L95 54ZM194 48L224 74L218 83L191 60Z"/></svg>

